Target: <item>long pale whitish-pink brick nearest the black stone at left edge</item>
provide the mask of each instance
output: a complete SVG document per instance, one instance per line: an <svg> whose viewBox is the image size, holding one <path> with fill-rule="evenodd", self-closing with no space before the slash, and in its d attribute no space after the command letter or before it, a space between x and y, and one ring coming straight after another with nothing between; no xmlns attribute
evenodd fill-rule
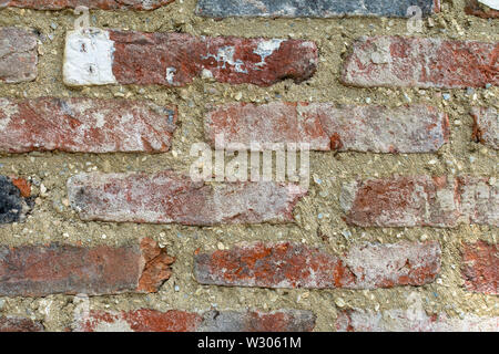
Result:
<svg viewBox="0 0 499 354"><path fill-rule="evenodd" d="M68 180L71 206L83 220L182 223L291 222L306 190L294 184L205 185L172 170L81 174Z"/></svg>

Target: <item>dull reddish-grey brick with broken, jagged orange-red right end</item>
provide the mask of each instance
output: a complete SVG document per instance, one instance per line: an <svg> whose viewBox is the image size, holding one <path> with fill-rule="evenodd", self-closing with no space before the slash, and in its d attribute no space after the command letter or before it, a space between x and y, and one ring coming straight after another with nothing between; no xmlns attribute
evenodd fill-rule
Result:
<svg viewBox="0 0 499 354"><path fill-rule="evenodd" d="M0 296L155 292L174 261L157 244L0 247Z"/></svg>

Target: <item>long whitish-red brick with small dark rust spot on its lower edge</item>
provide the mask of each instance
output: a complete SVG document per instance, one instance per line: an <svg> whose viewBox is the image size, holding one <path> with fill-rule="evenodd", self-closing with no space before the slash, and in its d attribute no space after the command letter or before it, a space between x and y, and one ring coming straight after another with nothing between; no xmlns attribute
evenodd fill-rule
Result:
<svg viewBox="0 0 499 354"><path fill-rule="evenodd" d="M429 153L449 140L447 115L425 105L226 104L211 111L204 125L212 146L222 134L228 150L307 143L313 150Z"/></svg>

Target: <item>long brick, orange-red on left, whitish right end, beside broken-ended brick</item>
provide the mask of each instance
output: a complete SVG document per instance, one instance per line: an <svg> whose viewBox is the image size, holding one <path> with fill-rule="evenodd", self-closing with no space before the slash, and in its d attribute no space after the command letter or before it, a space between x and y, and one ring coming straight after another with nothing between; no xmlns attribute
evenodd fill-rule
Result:
<svg viewBox="0 0 499 354"><path fill-rule="evenodd" d="M194 261L200 283L228 287L393 288L430 283L439 271L438 242L366 243L344 256L301 243L242 243Z"/></svg>

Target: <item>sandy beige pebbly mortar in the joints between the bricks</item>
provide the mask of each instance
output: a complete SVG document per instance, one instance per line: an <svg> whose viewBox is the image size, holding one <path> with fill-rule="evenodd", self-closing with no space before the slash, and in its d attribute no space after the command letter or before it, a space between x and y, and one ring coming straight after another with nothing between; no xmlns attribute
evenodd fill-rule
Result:
<svg viewBox="0 0 499 354"><path fill-rule="evenodd" d="M498 242L498 230L488 226L461 226L457 229L432 228L354 228L342 220L338 196L345 181L360 177L399 175L498 176L497 152L471 142L471 105L499 107L499 88L466 90L361 90L345 87L338 82L343 58L359 35L406 34L405 20L327 19L265 20L226 19L214 21L195 17L195 0L177 0L154 12L91 11L91 24L138 31L181 31L196 35L242 35L313 40L319 48L320 63L315 76L301 85L291 81L272 87L217 84L196 80L184 88L105 86L72 90L62 83L64 34L73 28L72 11L30 11L4 9L0 25L35 28L40 34L40 64L35 82L0 85L0 96L85 96L128 100L151 100L156 104L177 104L180 124L173 139L173 152L146 154L60 154L32 153L0 156L0 174L28 177L40 194L38 206L24 223L0 227L1 244L47 243L51 241L92 244L124 244L147 236L167 247L176 257L173 277L161 291L149 295L114 295L91 299L93 309L184 309L205 311L211 308L238 310L254 308L277 310L295 308L317 314L316 331L332 331L337 309L357 306L383 310L407 309L408 296L419 296L429 313L447 311L450 316L464 312L499 315L499 299L464 291L459 272L459 246L478 239ZM466 15L464 1L445 1L444 11L425 20L421 37L467 39L493 42L499 40L497 20ZM445 101L442 93L449 93ZM205 104L230 102L310 101L348 104L366 103L397 106L413 103L435 105L449 114L451 143L438 154L376 155L361 153L310 153L309 195L295 209L296 225L223 226L196 228L150 226L113 222L82 222L68 207L65 181L81 171L159 171L175 168L187 171L190 147L203 140ZM238 98L238 100L237 100ZM369 101L369 100L368 100ZM315 180L315 181L314 181ZM44 188L42 188L44 189ZM322 219L319 219L322 215ZM330 252L343 252L364 241L396 242L398 240L439 240L442 244L442 271L437 281L421 287L404 287L376 291L348 290L264 290L203 287L192 275L193 252L197 249L230 247L249 240L293 240L317 246ZM51 331L62 331L71 324L77 301L74 296L51 295L43 299L0 298L0 314L19 314L42 320ZM338 306L338 308L337 308Z"/></svg>

